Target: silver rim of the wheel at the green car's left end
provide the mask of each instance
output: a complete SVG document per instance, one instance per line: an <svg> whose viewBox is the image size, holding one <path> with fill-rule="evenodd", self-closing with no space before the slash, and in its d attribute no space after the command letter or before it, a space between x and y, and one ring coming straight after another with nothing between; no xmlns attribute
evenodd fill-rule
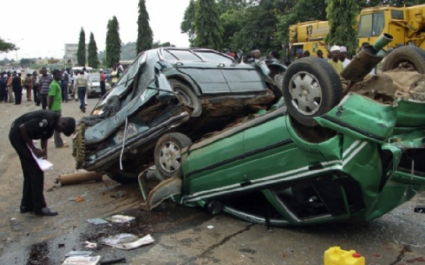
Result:
<svg viewBox="0 0 425 265"><path fill-rule="evenodd" d="M159 150L159 165L169 173L174 173L180 169L181 150L176 143L166 141Z"/></svg>

